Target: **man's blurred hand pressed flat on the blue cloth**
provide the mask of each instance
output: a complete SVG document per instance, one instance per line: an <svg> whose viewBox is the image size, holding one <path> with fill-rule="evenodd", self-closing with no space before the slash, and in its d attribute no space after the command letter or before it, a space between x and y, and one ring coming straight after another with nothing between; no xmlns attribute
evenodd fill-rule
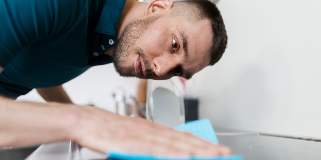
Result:
<svg viewBox="0 0 321 160"><path fill-rule="evenodd" d="M76 141L106 153L111 149L158 155L229 155L231 149L190 133L142 118L119 116L98 108L84 108Z"/></svg>

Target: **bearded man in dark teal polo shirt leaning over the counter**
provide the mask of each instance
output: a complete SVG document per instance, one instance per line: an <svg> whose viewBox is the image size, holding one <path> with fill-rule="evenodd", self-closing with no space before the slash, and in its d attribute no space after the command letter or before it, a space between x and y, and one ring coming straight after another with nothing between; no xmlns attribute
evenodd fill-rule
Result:
<svg viewBox="0 0 321 160"><path fill-rule="evenodd" d="M62 84L113 61L121 76L186 79L222 56L222 17L206 0L0 0L0 147L72 140L105 153L228 155L140 118L71 103ZM47 104L15 102L38 88ZM41 88L41 89L40 89Z"/></svg>

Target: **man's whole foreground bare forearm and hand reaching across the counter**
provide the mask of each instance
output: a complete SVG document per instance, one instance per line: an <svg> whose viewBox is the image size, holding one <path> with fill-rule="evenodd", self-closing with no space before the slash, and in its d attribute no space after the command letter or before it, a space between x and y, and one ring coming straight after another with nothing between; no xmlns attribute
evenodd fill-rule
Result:
<svg viewBox="0 0 321 160"><path fill-rule="evenodd" d="M61 103L15 102L0 97L0 148L72 140L106 153L227 155L231 150L141 118ZM139 147L138 147L139 146Z"/></svg>

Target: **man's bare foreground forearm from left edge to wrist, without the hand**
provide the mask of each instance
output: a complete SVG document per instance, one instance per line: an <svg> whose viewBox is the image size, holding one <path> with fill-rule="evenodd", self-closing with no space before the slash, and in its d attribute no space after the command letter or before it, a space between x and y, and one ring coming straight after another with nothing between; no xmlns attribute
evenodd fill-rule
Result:
<svg viewBox="0 0 321 160"><path fill-rule="evenodd" d="M68 127L75 121L61 107L0 97L0 148L72 139Z"/></svg>

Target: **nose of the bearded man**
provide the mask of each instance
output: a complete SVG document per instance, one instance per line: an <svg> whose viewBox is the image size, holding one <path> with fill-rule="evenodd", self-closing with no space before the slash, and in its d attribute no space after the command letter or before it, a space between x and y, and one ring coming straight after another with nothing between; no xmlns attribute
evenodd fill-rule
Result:
<svg viewBox="0 0 321 160"><path fill-rule="evenodd" d="M177 62L170 57L155 58L153 60L153 71L157 76L162 77L174 69L177 65L176 63Z"/></svg>

